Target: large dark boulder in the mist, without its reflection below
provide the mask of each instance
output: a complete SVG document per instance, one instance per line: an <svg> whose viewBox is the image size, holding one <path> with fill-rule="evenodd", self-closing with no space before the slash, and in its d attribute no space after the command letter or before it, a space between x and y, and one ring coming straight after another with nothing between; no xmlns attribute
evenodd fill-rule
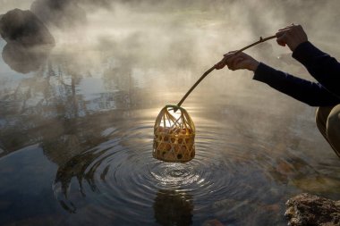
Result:
<svg viewBox="0 0 340 226"><path fill-rule="evenodd" d="M14 9L4 14L0 20L0 34L7 43L24 47L55 45L47 27L30 12Z"/></svg>

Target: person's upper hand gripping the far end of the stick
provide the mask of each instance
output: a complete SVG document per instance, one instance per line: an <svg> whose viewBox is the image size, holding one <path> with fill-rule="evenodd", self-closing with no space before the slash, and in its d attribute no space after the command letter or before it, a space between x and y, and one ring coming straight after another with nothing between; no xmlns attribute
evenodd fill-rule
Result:
<svg viewBox="0 0 340 226"><path fill-rule="evenodd" d="M307 35L301 25L289 25L276 32L276 42L280 46L287 45L292 51L303 42L308 41Z"/></svg>

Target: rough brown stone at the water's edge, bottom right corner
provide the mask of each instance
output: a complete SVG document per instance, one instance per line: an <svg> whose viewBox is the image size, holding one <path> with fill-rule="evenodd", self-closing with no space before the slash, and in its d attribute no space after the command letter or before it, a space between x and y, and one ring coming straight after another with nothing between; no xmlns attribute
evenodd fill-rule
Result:
<svg viewBox="0 0 340 226"><path fill-rule="evenodd" d="M303 193L286 202L285 217L291 226L340 226L340 201Z"/></svg>

